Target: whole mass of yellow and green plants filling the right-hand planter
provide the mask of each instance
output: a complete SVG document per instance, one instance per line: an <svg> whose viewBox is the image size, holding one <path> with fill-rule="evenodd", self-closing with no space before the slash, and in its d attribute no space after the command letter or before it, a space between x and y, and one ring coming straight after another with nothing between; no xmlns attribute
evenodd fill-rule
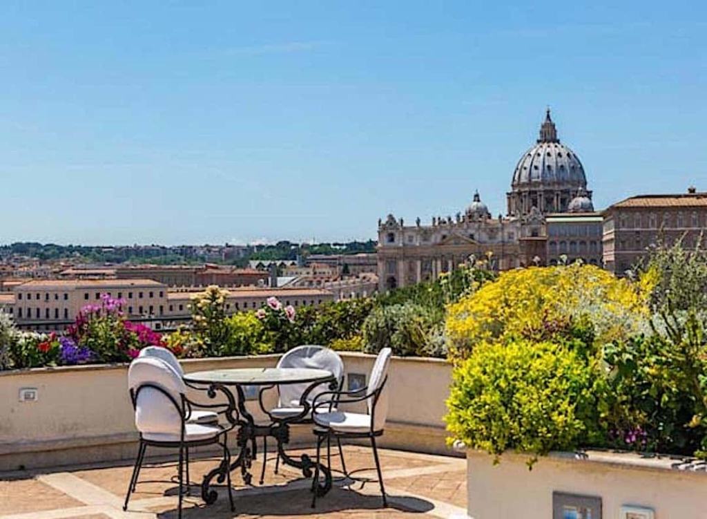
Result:
<svg viewBox="0 0 707 519"><path fill-rule="evenodd" d="M448 307L452 440L499 457L614 447L706 457L707 255L501 274Z"/></svg>

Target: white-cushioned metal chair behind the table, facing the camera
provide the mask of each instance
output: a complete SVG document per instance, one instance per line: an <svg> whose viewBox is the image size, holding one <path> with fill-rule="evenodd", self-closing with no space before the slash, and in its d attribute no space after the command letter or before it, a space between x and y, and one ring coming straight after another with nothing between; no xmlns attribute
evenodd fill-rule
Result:
<svg viewBox="0 0 707 519"><path fill-rule="evenodd" d="M277 367L281 368L296 368L296 367L307 367L317 370L327 370L334 375L337 382L337 389L341 389L341 384L344 381L344 361L337 352L330 348L325 348L324 346L317 346L313 344L308 344L305 346L298 346L286 352L277 363ZM293 420L296 416L302 414L304 411L303 406L300 403L303 394L307 389L309 389L311 384L281 384L277 387L278 390L278 401L277 405L272 409L265 409L264 403L262 401L263 392L260 392L260 406L261 409L267 413L272 421L287 421L288 423L312 423L311 412L304 418L299 420ZM312 389L307 395L307 401L310 406L314 402L315 398L322 394L323 392L330 392L332 390L328 384L320 384L314 389ZM332 404L332 409L334 409L335 404ZM337 438L338 440L338 438ZM263 440L263 450L264 459L262 473L260 475L260 484L263 483L265 474L265 460L267 460L267 443ZM346 464L344 462L344 451L341 449L341 442L339 441L339 457L341 457L341 465L346 473ZM275 473L279 467L280 455L278 453L275 460Z"/></svg>

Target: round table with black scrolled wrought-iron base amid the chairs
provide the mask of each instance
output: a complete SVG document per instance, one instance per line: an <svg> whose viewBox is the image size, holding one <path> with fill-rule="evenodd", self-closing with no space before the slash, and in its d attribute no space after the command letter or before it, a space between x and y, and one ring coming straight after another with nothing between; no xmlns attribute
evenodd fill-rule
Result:
<svg viewBox="0 0 707 519"><path fill-rule="evenodd" d="M236 442L238 443L238 457L228 465L221 463L216 469L204 476L201 483L201 498L206 503L214 503L218 494L211 490L211 481L216 477L218 483L226 479L227 471L240 467L240 473L245 484L250 484L252 474L249 469L252 460L257 455L256 439L259 437L275 438L280 459L292 467L302 471L304 477L312 477L316 463L306 454L299 459L287 455L285 446L290 440L290 424L307 418L311 411L308 395L312 389L321 384L328 384L329 389L337 389L337 381L332 373L326 370L309 368L281 368L281 367L245 367L233 370L211 370L187 373L184 375L187 386L204 389L211 398L216 398L217 392L224 394L228 399L228 409L224 413L230 423L238 427ZM278 418L271 423L257 424L250 411L245 406L246 388L259 389L258 399L262 407L262 394L266 389L284 384L309 384L300 398L302 411L296 416ZM234 394L235 393L235 394ZM320 464L320 473L324 474L324 481L317 484L314 491L318 496L323 496L332 488L332 474L327 466Z"/></svg>

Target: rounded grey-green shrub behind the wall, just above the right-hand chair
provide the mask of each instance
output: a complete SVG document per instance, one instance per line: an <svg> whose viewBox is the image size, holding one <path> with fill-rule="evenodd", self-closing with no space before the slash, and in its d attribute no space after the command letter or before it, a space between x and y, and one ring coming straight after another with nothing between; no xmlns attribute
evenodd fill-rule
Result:
<svg viewBox="0 0 707 519"><path fill-rule="evenodd" d="M373 310L363 321L361 334L368 353L392 348L396 355L421 355L428 346L436 315L420 304L407 302Z"/></svg>

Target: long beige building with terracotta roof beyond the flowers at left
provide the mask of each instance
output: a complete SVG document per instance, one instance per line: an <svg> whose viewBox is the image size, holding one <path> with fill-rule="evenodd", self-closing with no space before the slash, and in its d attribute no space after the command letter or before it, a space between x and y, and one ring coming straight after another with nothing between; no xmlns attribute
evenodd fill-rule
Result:
<svg viewBox="0 0 707 519"><path fill-rule="evenodd" d="M258 309L272 296L296 308L334 300L332 292L317 288L238 287L228 292L228 314ZM74 322L86 305L100 304L101 295L107 294L124 300L122 309L131 321L173 329L189 321L189 302L197 293L170 292L153 280L32 280L1 292L0 311L11 314L20 329L57 331Z"/></svg>

